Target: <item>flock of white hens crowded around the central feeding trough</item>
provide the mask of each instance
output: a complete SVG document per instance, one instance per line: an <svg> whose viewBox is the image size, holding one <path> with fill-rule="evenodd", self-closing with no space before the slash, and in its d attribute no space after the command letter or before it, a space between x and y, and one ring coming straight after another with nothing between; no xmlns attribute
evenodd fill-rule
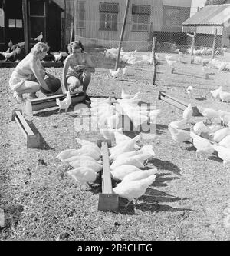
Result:
<svg viewBox="0 0 230 256"><path fill-rule="evenodd" d="M137 105L137 102L140 101L139 95L139 92L130 95L122 90L122 98L117 99L117 101L112 101L111 98L90 98L92 100L91 115L98 115L99 117L97 123L100 134L112 142L109 148L111 178L121 181L117 187L113 188L113 192L128 199L129 203L133 199L140 198L155 180L156 169L140 169L145 167L145 163L152 159L155 153L152 145L140 147L137 144L141 140L142 134L136 135L134 138L123 134L123 128L118 128L121 114L120 111L117 111L119 108L115 108L113 104L120 104L120 108L125 108L124 112L132 108L132 115L131 112L127 114L136 127L146 119L156 121L159 110L143 111L143 109L140 109ZM145 118L142 119L143 116ZM85 183L96 181L98 173L102 171L103 167L102 155L100 148L95 143L80 138L76 139L77 143L81 144L80 149L61 151L57 157L74 168L67 171L67 173L80 183L81 188L81 185Z"/></svg>

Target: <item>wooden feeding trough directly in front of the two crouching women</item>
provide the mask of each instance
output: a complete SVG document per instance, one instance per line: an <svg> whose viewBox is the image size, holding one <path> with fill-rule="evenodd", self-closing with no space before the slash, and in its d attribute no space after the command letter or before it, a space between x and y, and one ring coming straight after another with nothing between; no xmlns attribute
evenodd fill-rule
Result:
<svg viewBox="0 0 230 256"><path fill-rule="evenodd" d="M61 95L53 95L53 96L48 96L44 98L35 98L35 99L29 99L28 101L31 102L32 105L32 111L38 111L44 108L53 108L53 107L58 107L56 104L56 99L59 98L61 101L66 98L65 94ZM79 93L76 95L71 95L71 105L76 105L77 103L80 103L84 101L86 96L83 93Z"/></svg>

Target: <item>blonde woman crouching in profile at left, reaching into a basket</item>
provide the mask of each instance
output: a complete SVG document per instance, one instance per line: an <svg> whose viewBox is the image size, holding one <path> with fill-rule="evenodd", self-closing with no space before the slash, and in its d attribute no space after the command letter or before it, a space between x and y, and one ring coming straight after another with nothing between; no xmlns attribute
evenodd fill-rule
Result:
<svg viewBox="0 0 230 256"><path fill-rule="evenodd" d="M14 91L14 97L18 103L24 101L23 94L29 93L29 98L38 98L35 94L40 88L48 88L44 81L48 74L41 65L41 60L47 54L49 46L38 42L31 52L18 63L9 80L10 88Z"/></svg>

